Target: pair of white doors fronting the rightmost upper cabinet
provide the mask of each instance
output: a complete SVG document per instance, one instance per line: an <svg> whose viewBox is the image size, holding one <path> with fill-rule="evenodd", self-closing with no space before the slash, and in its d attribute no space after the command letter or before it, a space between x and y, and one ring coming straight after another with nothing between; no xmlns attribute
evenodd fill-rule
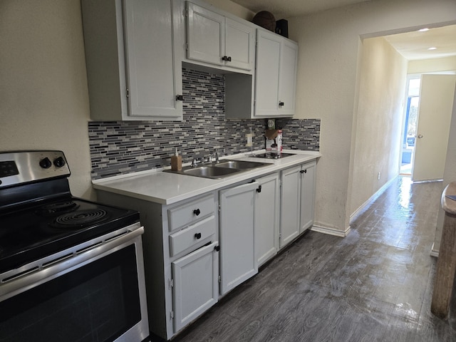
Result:
<svg viewBox="0 0 456 342"><path fill-rule="evenodd" d="M293 116L298 45L276 33L257 30L255 117Z"/></svg>

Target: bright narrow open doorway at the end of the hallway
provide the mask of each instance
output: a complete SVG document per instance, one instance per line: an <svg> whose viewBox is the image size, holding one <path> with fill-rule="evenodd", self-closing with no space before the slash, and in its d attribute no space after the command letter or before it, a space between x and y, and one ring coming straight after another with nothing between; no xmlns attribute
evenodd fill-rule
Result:
<svg viewBox="0 0 456 342"><path fill-rule="evenodd" d="M405 88L404 131L402 153L400 154L400 175L412 175L415 138L418 123L418 105L420 103L421 77L408 76Z"/></svg>

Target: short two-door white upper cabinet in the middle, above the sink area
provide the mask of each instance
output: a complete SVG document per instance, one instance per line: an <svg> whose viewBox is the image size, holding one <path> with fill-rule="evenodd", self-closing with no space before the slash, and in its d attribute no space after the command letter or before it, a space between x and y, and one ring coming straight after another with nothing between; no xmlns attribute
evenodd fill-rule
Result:
<svg viewBox="0 0 456 342"><path fill-rule="evenodd" d="M187 1L187 59L222 69L254 70L253 24Z"/></svg>

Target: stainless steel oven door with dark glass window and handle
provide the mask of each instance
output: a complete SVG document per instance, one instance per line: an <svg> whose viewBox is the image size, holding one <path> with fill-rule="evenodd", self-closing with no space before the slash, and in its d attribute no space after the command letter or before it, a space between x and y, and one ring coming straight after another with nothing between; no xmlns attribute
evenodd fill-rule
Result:
<svg viewBox="0 0 456 342"><path fill-rule="evenodd" d="M133 225L0 274L0 341L145 340L142 232Z"/></svg>

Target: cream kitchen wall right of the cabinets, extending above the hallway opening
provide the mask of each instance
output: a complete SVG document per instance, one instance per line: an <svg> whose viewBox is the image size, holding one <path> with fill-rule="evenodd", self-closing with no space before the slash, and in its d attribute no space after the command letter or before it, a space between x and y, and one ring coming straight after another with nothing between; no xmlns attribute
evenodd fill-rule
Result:
<svg viewBox="0 0 456 342"><path fill-rule="evenodd" d="M321 118L318 226L336 234L348 229L360 37L455 24L455 13L454 0L385 0L289 19L290 38L299 43L296 118Z"/></svg>

